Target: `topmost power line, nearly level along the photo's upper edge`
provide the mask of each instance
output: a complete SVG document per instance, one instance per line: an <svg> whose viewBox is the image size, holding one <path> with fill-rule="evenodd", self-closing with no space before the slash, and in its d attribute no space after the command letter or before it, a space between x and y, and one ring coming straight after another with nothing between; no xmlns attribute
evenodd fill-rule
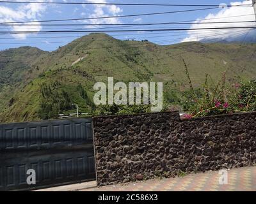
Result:
<svg viewBox="0 0 256 204"><path fill-rule="evenodd" d="M0 1L0 3L15 3L15 4L84 4L84 5L116 5L116 6L198 6L198 7L239 7L252 6L252 4L239 5L217 5L217 4L142 4L142 3L86 3L86 2L45 2L45 1Z"/></svg>

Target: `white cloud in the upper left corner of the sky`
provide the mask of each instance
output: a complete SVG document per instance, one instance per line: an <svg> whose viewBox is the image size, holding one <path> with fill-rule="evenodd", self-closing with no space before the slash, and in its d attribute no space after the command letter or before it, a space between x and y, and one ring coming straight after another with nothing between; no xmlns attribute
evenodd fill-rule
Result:
<svg viewBox="0 0 256 204"><path fill-rule="evenodd" d="M26 0L28 1L28 0ZM41 1L41 0L36 0ZM49 1L49 0L44 0ZM51 1L51 0L50 0ZM47 9L46 4L19 4L15 7L6 4L0 6L0 22L20 22L20 21L35 21L38 17L42 17ZM39 23L35 23L39 24ZM8 25L6 28L10 31L40 31L41 25L25 26L25 25ZM26 38L28 34L20 33L13 34L16 38Z"/></svg>

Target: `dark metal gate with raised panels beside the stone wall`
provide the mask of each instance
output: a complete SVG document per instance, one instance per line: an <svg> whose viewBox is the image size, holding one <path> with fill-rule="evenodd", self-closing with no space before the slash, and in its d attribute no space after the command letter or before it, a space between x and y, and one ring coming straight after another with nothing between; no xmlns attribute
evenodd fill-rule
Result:
<svg viewBox="0 0 256 204"><path fill-rule="evenodd" d="M27 170L36 172L28 185ZM92 119L0 124L0 191L95 180Z"/></svg>

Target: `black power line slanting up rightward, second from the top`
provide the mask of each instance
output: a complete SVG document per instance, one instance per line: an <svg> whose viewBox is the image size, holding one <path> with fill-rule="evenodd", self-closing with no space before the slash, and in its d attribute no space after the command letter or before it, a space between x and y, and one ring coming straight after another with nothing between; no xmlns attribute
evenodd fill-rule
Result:
<svg viewBox="0 0 256 204"><path fill-rule="evenodd" d="M166 11L166 12L157 12L157 13L141 13L141 14L132 14L132 15L115 15L109 17L91 17L91 18L70 18L70 19L58 19L58 20L31 20L31 21L20 21L20 22L0 22L0 24L22 24L22 23L31 23L31 22L59 22L59 21L72 21L72 20L93 20L93 19L105 19L105 18L124 18L124 17L140 17L147 15L163 15L170 13L185 13L191 11L202 11L202 10L213 10L219 7L213 8L198 8L193 10L180 10L180 11Z"/></svg>

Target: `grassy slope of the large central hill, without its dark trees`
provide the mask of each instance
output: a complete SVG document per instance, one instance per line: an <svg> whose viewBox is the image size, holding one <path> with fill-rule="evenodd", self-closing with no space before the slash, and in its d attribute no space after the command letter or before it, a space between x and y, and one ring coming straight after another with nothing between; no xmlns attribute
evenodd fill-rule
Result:
<svg viewBox="0 0 256 204"><path fill-rule="evenodd" d="M77 84L85 87L90 98L93 97L95 82L106 82L107 77L122 82L164 82L165 91L174 85L184 89L187 80L182 58L188 63L195 85L204 82L205 73L216 82L221 72L226 70L228 78L252 78L256 76L255 50L255 44L180 43L159 46L150 42L119 41L105 34L90 34L54 52L44 52L33 60L38 66L35 80L14 92L15 101L12 106L2 109L0 122L38 119L39 84L43 82L60 82L60 89L70 92L74 103L79 104L83 112L90 112L90 107L77 92ZM44 75L38 77L39 73Z"/></svg>

